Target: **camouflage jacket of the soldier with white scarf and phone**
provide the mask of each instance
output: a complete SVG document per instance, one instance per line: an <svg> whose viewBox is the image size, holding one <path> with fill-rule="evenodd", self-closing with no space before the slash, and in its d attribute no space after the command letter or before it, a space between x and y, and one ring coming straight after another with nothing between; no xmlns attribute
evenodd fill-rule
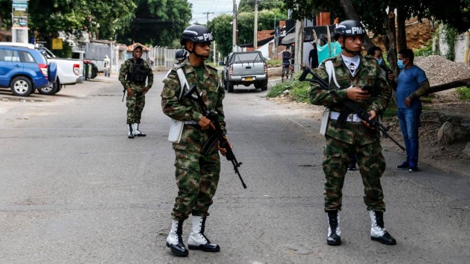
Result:
<svg viewBox="0 0 470 264"><path fill-rule="evenodd" d="M310 90L310 102L312 104L326 106L331 111L340 112L344 108L342 102L348 99L346 88L351 86L362 88L368 85L378 88L376 95L357 103L364 110L375 110L377 114L385 110L390 101L391 89L387 81L381 76L382 70L374 57L360 55L361 62L354 77L351 76L349 69L344 65L341 54L328 60L333 62L336 80L341 88L337 89L333 80L331 80L331 86L334 87L332 90L326 90L317 84L312 84ZM325 61L314 71L324 81L329 82ZM365 145L379 139L379 133L376 130L367 128L362 122L346 122L343 129L337 128L335 125L336 120L330 119L326 134L349 144Z"/></svg>

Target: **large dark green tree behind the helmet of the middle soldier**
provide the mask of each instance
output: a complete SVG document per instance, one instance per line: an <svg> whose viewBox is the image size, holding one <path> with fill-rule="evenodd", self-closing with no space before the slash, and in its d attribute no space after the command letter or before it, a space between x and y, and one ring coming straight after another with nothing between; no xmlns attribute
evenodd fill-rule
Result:
<svg viewBox="0 0 470 264"><path fill-rule="evenodd" d="M119 42L169 46L191 20L191 4L187 0L135 1L136 17L127 33L118 34Z"/></svg>

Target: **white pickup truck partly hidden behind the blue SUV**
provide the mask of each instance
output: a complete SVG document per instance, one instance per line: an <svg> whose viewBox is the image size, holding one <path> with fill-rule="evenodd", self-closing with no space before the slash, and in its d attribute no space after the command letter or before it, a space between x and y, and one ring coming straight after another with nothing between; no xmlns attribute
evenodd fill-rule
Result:
<svg viewBox="0 0 470 264"><path fill-rule="evenodd" d="M74 85L83 83L83 62L74 59L57 58L50 50L45 47L39 48L39 51L46 56L47 61L57 64L57 82L50 84L50 93L54 94L65 85Z"/></svg>

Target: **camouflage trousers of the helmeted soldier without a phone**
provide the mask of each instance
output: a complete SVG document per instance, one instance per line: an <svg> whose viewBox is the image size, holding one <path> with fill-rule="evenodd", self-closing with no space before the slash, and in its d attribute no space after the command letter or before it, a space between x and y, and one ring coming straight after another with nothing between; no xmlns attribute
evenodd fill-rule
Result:
<svg viewBox="0 0 470 264"><path fill-rule="evenodd" d="M171 217L176 220L193 216L209 216L209 206L217 189L220 173L218 152L203 155L200 152L175 150L176 185L178 195Z"/></svg>

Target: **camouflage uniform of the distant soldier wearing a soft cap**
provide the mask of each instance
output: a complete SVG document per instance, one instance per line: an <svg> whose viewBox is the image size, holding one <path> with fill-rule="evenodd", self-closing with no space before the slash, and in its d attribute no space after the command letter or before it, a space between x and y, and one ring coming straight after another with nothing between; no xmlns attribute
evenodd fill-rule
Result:
<svg viewBox="0 0 470 264"><path fill-rule="evenodd" d="M142 60L142 66L147 74L147 86L145 82L136 83L132 80L126 80L126 76L132 76L134 58L125 61L119 70L119 82L121 82L124 89L131 88L132 95L127 96L127 124L140 123L143 107L145 106L145 87L151 88L153 85L153 71L145 60Z"/></svg>

